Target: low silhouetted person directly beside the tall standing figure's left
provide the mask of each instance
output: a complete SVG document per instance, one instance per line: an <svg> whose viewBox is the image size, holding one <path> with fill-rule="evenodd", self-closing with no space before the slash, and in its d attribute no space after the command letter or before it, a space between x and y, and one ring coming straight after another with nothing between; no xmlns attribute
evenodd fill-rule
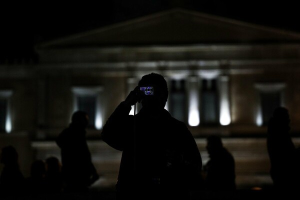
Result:
<svg viewBox="0 0 300 200"><path fill-rule="evenodd" d="M46 187L48 193L60 193L63 189L61 163L57 157L50 156L45 160L46 164Z"/></svg>

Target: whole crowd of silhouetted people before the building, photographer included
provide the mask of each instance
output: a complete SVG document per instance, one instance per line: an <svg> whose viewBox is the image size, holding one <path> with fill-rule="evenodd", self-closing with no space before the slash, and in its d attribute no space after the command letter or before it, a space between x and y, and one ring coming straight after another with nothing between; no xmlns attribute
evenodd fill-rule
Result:
<svg viewBox="0 0 300 200"><path fill-rule="evenodd" d="M146 74L104 124L101 139L122 151L116 198L189 199L192 191L235 192L235 160L221 136L206 137L209 159L202 164L187 126L164 109L167 97L164 77ZM142 108L129 115L136 102ZM55 139L61 160L55 156L33 160L28 177L20 170L15 147L2 147L0 195L87 193L99 178L85 138L87 124L86 112L74 112ZM292 141L287 108L274 109L267 124L266 147L274 196L295 194L300 188L300 147Z"/></svg>

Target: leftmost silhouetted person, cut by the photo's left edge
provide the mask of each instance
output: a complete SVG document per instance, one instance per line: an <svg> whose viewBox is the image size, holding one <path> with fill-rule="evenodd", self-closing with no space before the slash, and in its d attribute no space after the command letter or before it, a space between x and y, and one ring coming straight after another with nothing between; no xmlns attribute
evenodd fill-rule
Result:
<svg viewBox="0 0 300 200"><path fill-rule="evenodd" d="M0 162L4 165L0 174L0 195L18 195L23 190L24 176L19 168L18 153L14 146L1 149Z"/></svg>

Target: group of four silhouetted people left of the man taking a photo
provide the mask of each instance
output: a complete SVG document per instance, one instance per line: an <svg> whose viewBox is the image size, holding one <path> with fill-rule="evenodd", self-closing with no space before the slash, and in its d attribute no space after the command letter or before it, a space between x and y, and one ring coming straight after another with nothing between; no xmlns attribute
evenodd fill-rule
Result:
<svg viewBox="0 0 300 200"><path fill-rule="evenodd" d="M69 126L57 136L61 161L55 156L35 159L24 177L18 153L12 145L1 149L0 197L40 197L44 194L85 193L99 175L91 161L85 139L88 116L84 111L72 115ZM56 196L57 197L57 196Z"/></svg>

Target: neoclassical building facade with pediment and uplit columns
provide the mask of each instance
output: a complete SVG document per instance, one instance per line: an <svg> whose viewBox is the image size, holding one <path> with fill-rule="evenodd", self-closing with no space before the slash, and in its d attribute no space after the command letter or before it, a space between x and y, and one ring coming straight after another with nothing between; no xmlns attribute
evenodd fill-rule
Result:
<svg viewBox="0 0 300 200"><path fill-rule="evenodd" d="M99 132L150 72L166 78L165 108L188 125L203 161L205 137L222 136L240 187L270 183L265 134L276 106L289 109L300 143L300 33L171 9L42 42L35 51L37 64L0 65L2 141L22 135L32 159L59 156L53 138L84 109L93 158L113 179L119 152L101 143Z"/></svg>

